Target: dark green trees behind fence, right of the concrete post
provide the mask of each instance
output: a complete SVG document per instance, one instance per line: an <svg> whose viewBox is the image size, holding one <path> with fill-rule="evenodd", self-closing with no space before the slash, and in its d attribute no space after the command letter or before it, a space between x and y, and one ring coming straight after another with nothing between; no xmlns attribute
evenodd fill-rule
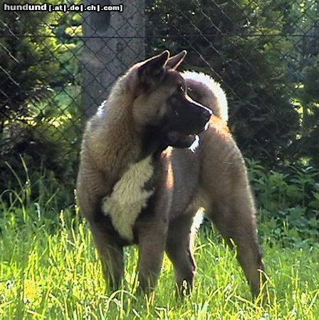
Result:
<svg viewBox="0 0 319 320"><path fill-rule="evenodd" d="M150 50L187 48L182 68L221 82L246 156L268 166L300 159L318 166L317 2L149 2Z"/></svg>

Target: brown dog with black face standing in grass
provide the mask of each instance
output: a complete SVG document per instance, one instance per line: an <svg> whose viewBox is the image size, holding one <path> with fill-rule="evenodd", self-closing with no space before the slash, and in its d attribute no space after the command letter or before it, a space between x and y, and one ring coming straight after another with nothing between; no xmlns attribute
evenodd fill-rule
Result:
<svg viewBox="0 0 319 320"><path fill-rule="evenodd" d="M179 73L186 51L132 66L83 134L77 199L110 289L123 248L137 245L138 290L155 290L164 252L177 292L192 290L194 216L204 208L235 245L253 297L265 276L255 206L241 151L227 127L224 91L208 75Z"/></svg>

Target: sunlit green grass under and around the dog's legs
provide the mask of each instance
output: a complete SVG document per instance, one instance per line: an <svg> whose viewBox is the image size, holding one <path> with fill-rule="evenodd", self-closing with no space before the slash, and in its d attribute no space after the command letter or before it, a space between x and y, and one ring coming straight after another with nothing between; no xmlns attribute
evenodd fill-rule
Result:
<svg viewBox="0 0 319 320"><path fill-rule="evenodd" d="M132 294L135 248L127 250L124 288L108 294L88 225L73 210L49 207L0 207L1 319L319 319L318 245L264 244L271 304L263 309L251 302L234 253L204 228L192 297L175 299L165 257L155 299L147 301Z"/></svg>

